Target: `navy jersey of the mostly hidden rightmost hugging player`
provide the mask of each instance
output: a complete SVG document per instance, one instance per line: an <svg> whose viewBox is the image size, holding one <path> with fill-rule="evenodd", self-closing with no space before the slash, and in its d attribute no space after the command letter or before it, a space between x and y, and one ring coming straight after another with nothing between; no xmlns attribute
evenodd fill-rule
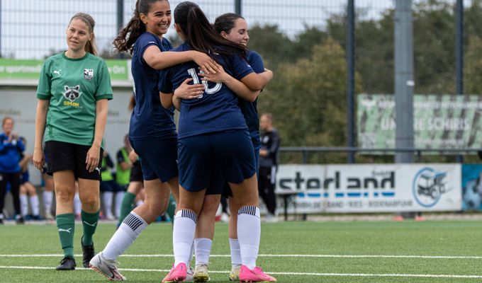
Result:
<svg viewBox="0 0 482 283"><path fill-rule="evenodd" d="M247 54L247 62L256 74L264 72L263 59L257 52L250 51ZM258 99L256 98L253 102L246 101L242 98L239 98L239 100L239 106L242 114L245 115L247 129L250 131L254 149L259 149L261 147L261 141L259 140Z"/></svg>

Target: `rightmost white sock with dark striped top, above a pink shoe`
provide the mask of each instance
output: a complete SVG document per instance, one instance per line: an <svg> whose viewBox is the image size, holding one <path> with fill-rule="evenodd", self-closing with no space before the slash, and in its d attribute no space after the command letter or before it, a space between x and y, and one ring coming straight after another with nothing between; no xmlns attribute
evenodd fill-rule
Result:
<svg viewBox="0 0 482 283"><path fill-rule="evenodd" d="M259 208L254 206L241 207L237 212L237 241L240 242L242 264L250 270L256 267L260 238Z"/></svg>

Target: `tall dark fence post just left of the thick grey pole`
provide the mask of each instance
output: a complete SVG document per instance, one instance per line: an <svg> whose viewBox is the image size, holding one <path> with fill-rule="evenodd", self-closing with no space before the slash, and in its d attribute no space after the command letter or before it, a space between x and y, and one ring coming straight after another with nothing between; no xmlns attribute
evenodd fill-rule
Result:
<svg viewBox="0 0 482 283"><path fill-rule="evenodd" d="M355 146L354 139L354 77L355 77L355 60L354 60L354 29L355 29L355 12L354 0L347 0L347 145ZM347 162L355 162L354 151L347 152Z"/></svg>

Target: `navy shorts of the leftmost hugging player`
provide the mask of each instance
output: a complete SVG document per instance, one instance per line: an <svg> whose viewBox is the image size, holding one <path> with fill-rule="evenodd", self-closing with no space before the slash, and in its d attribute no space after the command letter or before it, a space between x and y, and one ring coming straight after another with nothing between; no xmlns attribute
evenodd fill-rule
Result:
<svg viewBox="0 0 482 283"><path fill-rule="evenodd" d="M130 144L139 156L144 180L159 179L164 183L178 175L176 137L131 140Z"/></svg>

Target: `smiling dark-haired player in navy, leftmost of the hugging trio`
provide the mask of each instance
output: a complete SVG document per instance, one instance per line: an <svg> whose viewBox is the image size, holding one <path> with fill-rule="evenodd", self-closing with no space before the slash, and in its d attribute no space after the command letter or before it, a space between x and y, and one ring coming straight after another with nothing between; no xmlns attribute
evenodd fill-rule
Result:
<svg viewBox="0 0 482 283"><path fill-rule="evenodd" d="M116 259L166 210L171 191L179 200L174 108L163 108L160 103L158 70L191 60L207 72L215 67L213 59L202 52L169 52L172 45L163 35L170 24L169 1L138 0L133 17L113 42L120 52L133 54L135 108L129 139L140 156L145 202L125 217L106 248L90 262L92 269L111 280L125 279L118 272Z"/></svg>

